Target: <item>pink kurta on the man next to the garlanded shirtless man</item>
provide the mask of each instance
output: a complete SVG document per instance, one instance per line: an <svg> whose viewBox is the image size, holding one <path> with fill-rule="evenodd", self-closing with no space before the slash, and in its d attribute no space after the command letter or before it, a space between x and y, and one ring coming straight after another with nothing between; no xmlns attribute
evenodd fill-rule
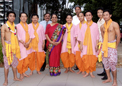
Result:
<svg viewBox="0 0 122 86"><path fill-rule="evenodd" d="M25 39L26 39L26 32L24 30L24 28L22 27L21 24L17 24L17 37L18 37L18 40L22 40L25 42ZM30 38L35 38L34 34L32 33L32 29L31 28L28 28L28 33L30 35ZM26 48L24 47L24 45L22 43L19 42L19 46L20 46L20 53L21 53L21 59L19 60L22 60L24 58L26 58L28 56L28 54L31 53L31 49L30 50L26 50Z"/></svg>

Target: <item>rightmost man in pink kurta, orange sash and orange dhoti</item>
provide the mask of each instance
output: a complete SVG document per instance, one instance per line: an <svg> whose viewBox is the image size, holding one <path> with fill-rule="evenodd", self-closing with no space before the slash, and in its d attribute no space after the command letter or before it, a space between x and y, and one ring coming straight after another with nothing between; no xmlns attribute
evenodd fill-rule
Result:
<svg viewBox="0 0 122 86"><path fill-rule="evenodd" d="M86 71L83 77L87 77L89 73L91 77L95 77L92 72L96 70L99 31L97 24L92 21L92 12L87 11L85 16L87 22L84 24L82 34L78 35L82 52L81 57Z"/></svg>

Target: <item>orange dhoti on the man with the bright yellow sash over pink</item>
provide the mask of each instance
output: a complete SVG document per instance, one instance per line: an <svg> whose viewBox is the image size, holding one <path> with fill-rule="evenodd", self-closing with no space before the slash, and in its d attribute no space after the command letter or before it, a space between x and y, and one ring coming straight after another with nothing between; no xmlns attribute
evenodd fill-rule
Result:
<svg viewBox="0 0 122 86"><path fill-rule="evenodd" d="M65 68L73 67L75 64L75 55L68 52L62 53L61 60Z"/></svg>

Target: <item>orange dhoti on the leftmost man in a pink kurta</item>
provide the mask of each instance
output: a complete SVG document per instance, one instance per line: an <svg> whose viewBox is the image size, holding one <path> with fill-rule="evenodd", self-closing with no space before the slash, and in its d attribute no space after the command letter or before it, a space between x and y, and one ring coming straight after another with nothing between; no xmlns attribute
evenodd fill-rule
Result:
<svg viewBox="0 0 122 86"><path fill-rule="evenodd" d="M19 61L18 66L17 66L18 73L23 74L28 70L29 57L30 57L30 54L28 55L28 57L22 60L18 60Z"/></svg>

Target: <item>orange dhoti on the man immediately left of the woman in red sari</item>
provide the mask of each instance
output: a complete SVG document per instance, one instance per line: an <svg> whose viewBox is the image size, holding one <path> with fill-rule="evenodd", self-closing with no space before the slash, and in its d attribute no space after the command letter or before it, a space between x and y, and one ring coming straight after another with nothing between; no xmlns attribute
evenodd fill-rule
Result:
<svg viewBox="0 0 122 86"><path fill-rule="evenodd" d="M44 61L45 53L44 52L33 52L30 54L29 58L29 68L31 71L37 70L40 71Z"/></svg>

